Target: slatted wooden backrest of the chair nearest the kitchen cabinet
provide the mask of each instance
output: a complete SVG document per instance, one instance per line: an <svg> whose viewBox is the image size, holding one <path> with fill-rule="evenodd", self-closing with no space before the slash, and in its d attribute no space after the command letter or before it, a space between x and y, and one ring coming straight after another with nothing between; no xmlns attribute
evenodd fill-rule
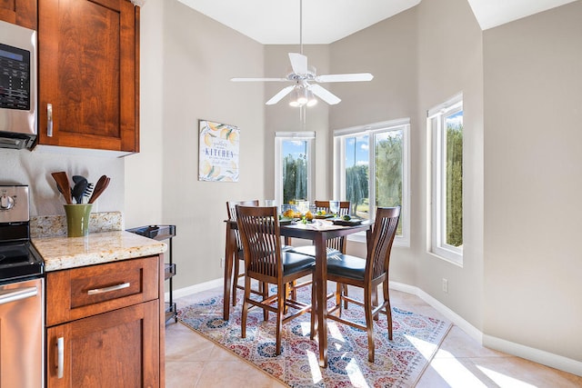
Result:
<svg viewBox="0 0 582 388"><path fill-rule="evenodd" d="M245 252L246 274L251 277L258 274L278 283L276 278L283 275L283 262L276 206L236 205L236 223Z"/></svg>

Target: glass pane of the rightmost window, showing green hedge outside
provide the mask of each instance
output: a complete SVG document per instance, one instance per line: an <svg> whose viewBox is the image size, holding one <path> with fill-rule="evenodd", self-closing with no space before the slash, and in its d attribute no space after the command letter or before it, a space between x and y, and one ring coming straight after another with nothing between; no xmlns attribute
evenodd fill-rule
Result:
<svg viewBox="0 0 582 388"><path fill-rule="evenodd" d="M463 244L463 111L445 118L447 128L447 235L448 245Z"/></svg>

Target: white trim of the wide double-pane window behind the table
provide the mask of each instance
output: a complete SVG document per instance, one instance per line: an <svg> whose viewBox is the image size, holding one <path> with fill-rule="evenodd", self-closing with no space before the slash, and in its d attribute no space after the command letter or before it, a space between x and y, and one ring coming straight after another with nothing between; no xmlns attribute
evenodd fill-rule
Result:
<svg viewBox="0 0 582 388"><path fill-rule="evenodd" d="M402 187L404 193L402 194L402 214L400 223L402 224L402 235L396 235L394 239L395 246L410 246L410 119L396 119L375 124L366 124L360 126L353 126L350 128L337 129L334 131L334 198L346 198L346 185L344 184L345 177L342 172L345 170L346 154L342 147L342 138L352 134L374 134L377 132L386 132L386 130L402 130L403 133L403 150L402 150ZM369 174L374 176L374 153L369 154ZM371 204L376 203L375 191L368 190ZM356 241L358 243L366 243L366 233L349 234L347 236L349 241Z"/></svg>

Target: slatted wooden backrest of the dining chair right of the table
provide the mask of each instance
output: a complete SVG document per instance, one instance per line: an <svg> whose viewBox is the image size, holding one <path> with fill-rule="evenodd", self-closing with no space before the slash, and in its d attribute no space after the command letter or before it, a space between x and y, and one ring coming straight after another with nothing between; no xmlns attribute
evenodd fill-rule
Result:
<svg viewBox="0 0 582 388"><path fill-rule="evenodd" d="M366 260L365 278L376 279L388 272L392 243L396 236L396 227L400 219L400 206L378 207L376 221L370 238L370 248Z"/></svg>

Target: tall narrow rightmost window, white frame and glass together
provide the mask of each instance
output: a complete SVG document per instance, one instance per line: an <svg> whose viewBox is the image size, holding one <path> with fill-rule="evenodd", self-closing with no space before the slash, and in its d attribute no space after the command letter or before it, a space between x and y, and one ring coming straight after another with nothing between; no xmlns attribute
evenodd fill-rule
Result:
<svg viewBox="0 0 582 388"><path fill-rule="evenodd" d="M431 153L431 245L463 264L463 95L428 111Z"/></svg>

